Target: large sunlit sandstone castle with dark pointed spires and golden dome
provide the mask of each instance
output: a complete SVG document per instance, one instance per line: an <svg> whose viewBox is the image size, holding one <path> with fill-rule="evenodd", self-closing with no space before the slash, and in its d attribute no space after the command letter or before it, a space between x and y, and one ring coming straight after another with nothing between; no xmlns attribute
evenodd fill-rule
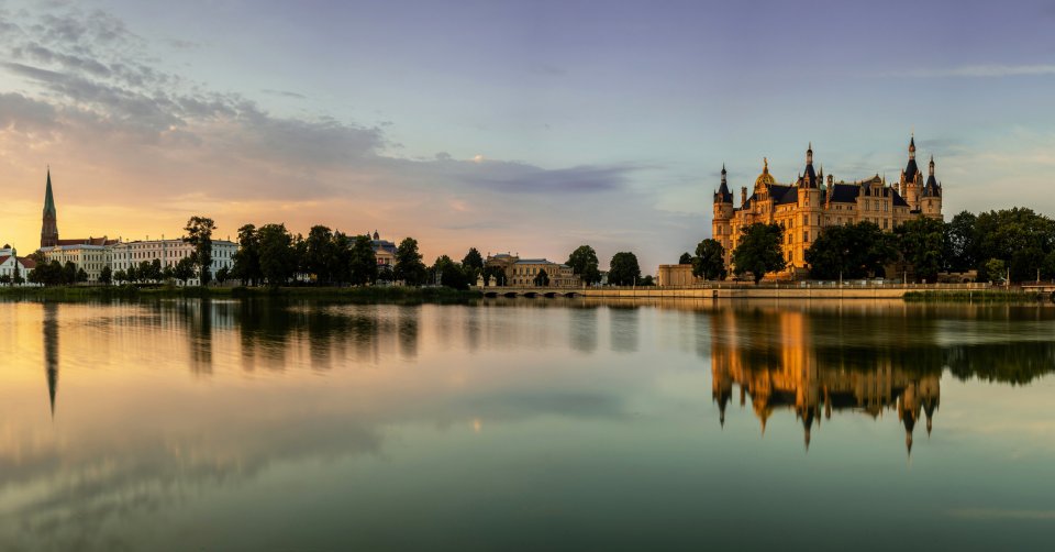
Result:
<svg viewBox="0 0 1055 552"><path fill-rule="evenodd" d="M779 184L764 159L752 195L740 190L740 207L733 207L733 194L722 166L722 184L714 192L712 236L725 249L725 266L732 267L732 252L742 232L756 222L775 223L784 230L784 256L787 268L777 277L804 276L806 251L831 225L871 222L890 232L918 217L942 219L942 185L934 178L934 157L924 180L915 164L915 137L909 141L909 162L901 178L888 186L878 173L871 178L845 183L824 169L813 169L813 145L806 151L806 168L791 184Z"/></svg>

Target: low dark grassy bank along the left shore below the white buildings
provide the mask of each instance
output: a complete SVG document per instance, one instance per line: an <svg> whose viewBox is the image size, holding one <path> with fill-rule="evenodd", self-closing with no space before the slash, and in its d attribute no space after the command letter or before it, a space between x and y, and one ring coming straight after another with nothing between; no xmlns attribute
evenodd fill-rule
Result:
<svg viewBox="0 0 1055 552"><path fill-rule="evenodd" d="M3 287L0 300L91 301L115 299L297 298L347 302L464 303L482 297L475 290L446 287L199 287L199 286L54 286Z"/></svg>

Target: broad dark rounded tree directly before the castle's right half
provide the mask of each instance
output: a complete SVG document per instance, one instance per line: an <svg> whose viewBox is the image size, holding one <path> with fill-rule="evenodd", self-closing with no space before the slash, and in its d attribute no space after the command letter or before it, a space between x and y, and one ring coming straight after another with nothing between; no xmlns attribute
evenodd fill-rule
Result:
<svg viewBox="0 0 1055 552"><path fill-rule="evenodd" d="M891 234L871 222L828 227L806 251L814 279L867 278L885 275L885 266L898 258Z"/></svg>

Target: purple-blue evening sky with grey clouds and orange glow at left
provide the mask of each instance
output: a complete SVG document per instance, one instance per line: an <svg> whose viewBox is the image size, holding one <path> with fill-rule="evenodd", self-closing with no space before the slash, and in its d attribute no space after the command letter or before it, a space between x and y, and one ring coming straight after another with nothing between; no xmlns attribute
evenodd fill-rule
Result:
<svg viewBox="0 0 1055 552"><path fill-rule="evenodd" d="M711 235L724 164L896 180L946 220L1055 214L1055 2L0 0L0 242L193 214L644 274ZM736 194L738 196L738 194ZM738 200L738 199L737 199Z"/></svg>

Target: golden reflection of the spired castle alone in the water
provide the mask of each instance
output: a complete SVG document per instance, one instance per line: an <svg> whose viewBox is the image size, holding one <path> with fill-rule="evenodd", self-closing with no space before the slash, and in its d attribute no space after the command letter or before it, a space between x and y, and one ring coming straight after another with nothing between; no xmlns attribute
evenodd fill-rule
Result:
<svg viewBox="0 0 1055 552"><path fill-rule="evenodd" d="M879 346L854 351L851 345L847 354L847 343L839 335L843 324L819 324L822 320L789 310L730 309L713 314L712 394L720 423L725 423L735 385L741 407L751 398L763 434L774 412L795 412L808 449L814 429L833 412L878 418L892 410L904 427L904 444L911 453L921 417L928 434L933 428L941 402L942 364L907 362L929 355L893 346L897 340L889 333L879 339ZM880 322L867 331L882 330Z"/></svg>

